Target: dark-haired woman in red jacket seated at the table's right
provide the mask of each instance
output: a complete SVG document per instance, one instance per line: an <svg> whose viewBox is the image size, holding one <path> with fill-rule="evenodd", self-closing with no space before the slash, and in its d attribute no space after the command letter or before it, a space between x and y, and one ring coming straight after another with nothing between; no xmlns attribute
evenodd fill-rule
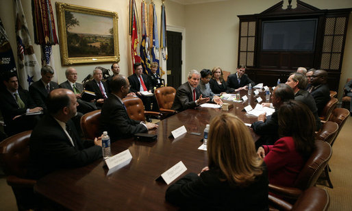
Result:
<svg viewBox="0 0 352 211"><path fill-rule="evenodd" d="M263 145L257 154L268 166L270 184L292 187L315 148L315 120L307 105L290 100L278 111L279 140Z"/></svg>

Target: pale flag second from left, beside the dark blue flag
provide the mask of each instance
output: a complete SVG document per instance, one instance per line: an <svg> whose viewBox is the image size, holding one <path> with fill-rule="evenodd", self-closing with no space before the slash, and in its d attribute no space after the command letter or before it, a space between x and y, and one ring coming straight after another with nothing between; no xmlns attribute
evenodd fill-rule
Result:
<svg viewBox="0 0 352 211"><path fill-rule="evenodd" d="M17 41L17 56L18 56L18 81L23 89L29 88L32 82L36 82L41 78L40 65L38 64L21 0L14 0L15 17L16 17L16 41Z"/></svg>

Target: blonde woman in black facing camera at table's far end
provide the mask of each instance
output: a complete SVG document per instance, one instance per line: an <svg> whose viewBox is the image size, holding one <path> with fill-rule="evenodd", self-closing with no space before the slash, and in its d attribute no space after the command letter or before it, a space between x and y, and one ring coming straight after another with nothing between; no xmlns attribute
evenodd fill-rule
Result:
<svg viewBox="0 0 352 211"><path fill-rule="evenodd" d="M212 69L212 79L210 79L209 84L212 92L214 94L222 94L225 92L234 92L234 89L227 88L226 82L223 78L223 70L221 70L220 66L216 66Z"/></svg>

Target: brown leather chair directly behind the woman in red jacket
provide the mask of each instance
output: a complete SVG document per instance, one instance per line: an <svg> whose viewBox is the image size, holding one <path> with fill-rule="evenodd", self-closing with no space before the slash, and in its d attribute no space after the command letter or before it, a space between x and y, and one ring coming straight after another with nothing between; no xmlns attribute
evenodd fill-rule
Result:
<svg viewBox="0 0 352 211"><path fill-rule="evenodd" d="M303 166L292 187L269 184L269 192L274 193L285 201L295 202L304 190L316 184L316 180L323 172L327 162L331 158L332 149L329 143L316 140L316 149ZM269 195L271 195L269 193Z"/></svg>

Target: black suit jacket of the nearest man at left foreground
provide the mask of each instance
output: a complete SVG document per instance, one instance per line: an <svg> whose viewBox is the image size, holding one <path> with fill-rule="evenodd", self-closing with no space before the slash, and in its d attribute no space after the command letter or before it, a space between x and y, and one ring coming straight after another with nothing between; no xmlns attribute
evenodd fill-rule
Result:
<svg viewBox="0 0 352 211"><path fill-rule="evenodd" d="M29 177L39 178L55 169L84 166L101 158L101 147L94 145L93 140L81 140L73 121L67 124L73 132L75 147L50 114L36 125L29 140Z"/></svg>

